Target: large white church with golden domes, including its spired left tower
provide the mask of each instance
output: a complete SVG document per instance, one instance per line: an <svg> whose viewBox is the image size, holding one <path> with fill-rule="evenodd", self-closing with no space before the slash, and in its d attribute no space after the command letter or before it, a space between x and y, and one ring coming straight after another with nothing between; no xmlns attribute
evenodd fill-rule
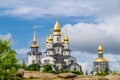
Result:
<svg viewBox="0 0 120 80"><path fill-rule="evenodd" d="M67 34L65 36L61 34L60 24L56 20L53 33L46 39L44 56L40 58L42 53L38 51L39 46L37 45L36 32L34 31L31 51L27 53L28 65L33 63L40 64L40 70L47 64L51 65L55 71L60 69L80 70L80 65L76 62L76 59L70 55L71 49L69 48L69 43L69 37Z"/></svg>

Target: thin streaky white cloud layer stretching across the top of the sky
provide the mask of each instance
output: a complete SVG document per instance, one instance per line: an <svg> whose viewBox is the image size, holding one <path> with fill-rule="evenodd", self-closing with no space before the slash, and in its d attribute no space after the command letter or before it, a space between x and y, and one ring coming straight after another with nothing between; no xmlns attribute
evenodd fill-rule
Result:
<svg viewBox="0 0 120 80"><path fill-rule="evenodd" d="M119 0L1 0L1 14L38 18L46 15L97 16L120 15Z"/></svg>

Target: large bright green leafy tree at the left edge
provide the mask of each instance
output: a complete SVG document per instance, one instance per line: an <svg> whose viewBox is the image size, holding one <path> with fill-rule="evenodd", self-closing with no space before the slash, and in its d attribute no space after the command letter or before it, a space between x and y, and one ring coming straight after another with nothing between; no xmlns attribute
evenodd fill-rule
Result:
<svg viewBox="0 0 120 80"><path fill-rule="evenodd" d="M16 51L9 45L8 40L0 39L0 79L8 79L17 72Z"/></svg>

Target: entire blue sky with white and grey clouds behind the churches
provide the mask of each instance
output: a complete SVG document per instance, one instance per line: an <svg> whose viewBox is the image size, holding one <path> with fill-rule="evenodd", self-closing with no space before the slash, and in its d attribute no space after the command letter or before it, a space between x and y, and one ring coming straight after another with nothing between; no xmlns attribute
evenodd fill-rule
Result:
<svg viewBox="0 0 120 80"><path fill-rule="evenodd" d="M58 14L62 31L68 31L71 55L84 71L92 70L100 40L110 69L120 71L119 4L120 0L0 0L0 38L11 39L19 60L27 60L33 26L44 52Z"/></svg>

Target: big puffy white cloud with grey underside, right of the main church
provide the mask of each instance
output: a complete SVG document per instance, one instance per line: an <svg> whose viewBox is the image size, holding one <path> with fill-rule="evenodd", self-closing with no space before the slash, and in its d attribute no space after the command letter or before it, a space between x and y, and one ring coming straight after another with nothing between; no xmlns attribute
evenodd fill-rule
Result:
<svg viewBox="0 0 120 80"><path fill-rule="evenodd" d="M118 54L120 52L120 17L112 17L99 24L77 23L66 24L63 31L68 30L70 45L73 50L97 52L101 40L104 52Z"/></svg>

